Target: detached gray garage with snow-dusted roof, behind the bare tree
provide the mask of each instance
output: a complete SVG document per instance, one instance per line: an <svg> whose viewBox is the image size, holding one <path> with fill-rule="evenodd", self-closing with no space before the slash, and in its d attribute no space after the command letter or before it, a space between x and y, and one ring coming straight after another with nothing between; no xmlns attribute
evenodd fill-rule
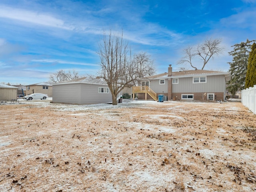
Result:
<svg viewBox="0 0 256 192"><path fill-rule="evenodd" d="M52 102L93 104L112 102L105 82L88 77L59 82L52 85Z"/></svg>

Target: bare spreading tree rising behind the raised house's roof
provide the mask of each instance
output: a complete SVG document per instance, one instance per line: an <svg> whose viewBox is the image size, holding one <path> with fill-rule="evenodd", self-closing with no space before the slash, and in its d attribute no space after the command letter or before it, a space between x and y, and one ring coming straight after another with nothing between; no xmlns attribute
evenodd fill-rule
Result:
<svg viewBox="0 0 256 192"><path fill-rule="evenodd" d="M204 43L199 44L196 48L188 46L188 48L183 50L185 56L178 61L178 64L188 63L192 68L197 70L198 68L192 64L192 59L198 56L199 59L203 61L203 70L210 58L214 59L214 56L218 56L224 50L224 48L220 46L221 41L221 39L206 39Z"/></svg>

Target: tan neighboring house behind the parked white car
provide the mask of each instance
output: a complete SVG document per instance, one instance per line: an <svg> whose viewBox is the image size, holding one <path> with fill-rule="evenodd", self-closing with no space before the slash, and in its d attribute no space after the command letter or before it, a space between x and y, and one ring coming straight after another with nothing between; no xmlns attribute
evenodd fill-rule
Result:
<svg viewBox="0 0 256 192"><path fill-rule="evenodd" d="M43 93L52 97L52 84L51 82L42 82L37 84L26 85L26 95L33 93Z"/></svg>

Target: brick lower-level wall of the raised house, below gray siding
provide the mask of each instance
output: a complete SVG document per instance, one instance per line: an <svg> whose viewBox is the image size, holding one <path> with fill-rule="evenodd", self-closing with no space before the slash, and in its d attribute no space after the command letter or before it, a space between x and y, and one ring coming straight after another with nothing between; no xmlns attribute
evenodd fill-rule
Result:
<svg viewBox="0 0 256 192"><path fill-rule="evenodd" d="M181 100L181 94L194 94L194 100L196 101L207 101L207 93L205 96L205 93L172 93L172 100ZM224 98L224 93L222 92L217 92L214 93L214 100L223 100ZM168 98L169 100L169 98ZM185 100L186 101L186 100Z"/></svg>

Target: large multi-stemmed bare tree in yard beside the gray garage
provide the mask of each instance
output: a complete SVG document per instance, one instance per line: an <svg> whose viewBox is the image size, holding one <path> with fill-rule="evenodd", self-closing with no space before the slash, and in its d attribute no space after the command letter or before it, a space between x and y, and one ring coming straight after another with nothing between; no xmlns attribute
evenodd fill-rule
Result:
<svg viewBox="0 0 256 192"><path fill-rule="evenodd" d="M101 67L98 77L108 84L113 105L117 105L117 95L124 87L131 87L138 78L154 72L153 63L149 63L151 60L146 54L137 54L134 59L132 58L131 50L128 42L124 41L123 34L112 34L110 31L109 35L106 35L104 32L97 53L100 56Z"/></svg>

